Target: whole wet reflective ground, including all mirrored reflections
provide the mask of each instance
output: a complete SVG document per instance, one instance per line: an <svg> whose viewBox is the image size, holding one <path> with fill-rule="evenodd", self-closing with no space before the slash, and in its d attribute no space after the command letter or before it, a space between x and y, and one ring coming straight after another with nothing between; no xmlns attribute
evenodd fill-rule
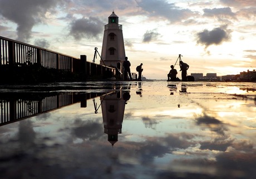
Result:
<svg viewBox="0 0 256 179"><path fill-rule="evenodd" d="M256 178L255 91L221 82L0 86L0 177Z"/></svg>

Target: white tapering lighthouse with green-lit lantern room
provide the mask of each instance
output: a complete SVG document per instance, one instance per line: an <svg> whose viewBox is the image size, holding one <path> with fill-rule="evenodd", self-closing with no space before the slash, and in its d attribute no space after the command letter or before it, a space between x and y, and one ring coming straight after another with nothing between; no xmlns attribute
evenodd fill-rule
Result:
<svg viewBox="0 0 256 179"><path fill-rule="evenodd" d="M109 23L105 25L104 37L101 50L102 61L100 64L106 66L116 67L121 72L122 63L125 61L125 45L124 37L122 36L122 25L118 23L119 17L116 16L114 11L109 17ZM120 74L118 70L116 74Z"/></svg>

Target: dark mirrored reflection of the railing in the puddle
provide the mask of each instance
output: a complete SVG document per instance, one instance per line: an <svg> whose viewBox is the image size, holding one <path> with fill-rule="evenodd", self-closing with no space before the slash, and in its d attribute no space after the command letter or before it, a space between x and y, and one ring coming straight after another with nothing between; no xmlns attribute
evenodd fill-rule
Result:
<svg viewBox="0 0 256 179"><path fill-rule="evenodd" d="M86 100L105 94L104 92L0 93L0 126L77 102L81 102L81 107L86 107Z"/></svg>

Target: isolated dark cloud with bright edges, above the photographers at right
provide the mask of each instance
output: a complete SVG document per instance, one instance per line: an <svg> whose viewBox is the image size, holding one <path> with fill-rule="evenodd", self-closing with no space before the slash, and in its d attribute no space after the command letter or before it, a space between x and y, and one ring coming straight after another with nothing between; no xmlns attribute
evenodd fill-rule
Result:
<svg viewBox="0 0 256 179"><path fill-rule="evenodd" d="M204 45L205 48L212 44L219 45L231 39L231 32L227 26L217 27L211 31L204 29L204 31L196 34L197 43Z"/></svg>

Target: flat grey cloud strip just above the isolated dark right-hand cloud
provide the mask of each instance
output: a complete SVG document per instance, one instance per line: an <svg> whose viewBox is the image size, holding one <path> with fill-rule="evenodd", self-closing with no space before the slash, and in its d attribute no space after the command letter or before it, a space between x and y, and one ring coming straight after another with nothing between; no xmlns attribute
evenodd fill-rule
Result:
<svg viewBox="0 0 256 179"><path fill-rule="evenodd" d="M232 17L235 18L235 13L232 12L230 7L203 9L204 16L207 17Z"/></svg>

